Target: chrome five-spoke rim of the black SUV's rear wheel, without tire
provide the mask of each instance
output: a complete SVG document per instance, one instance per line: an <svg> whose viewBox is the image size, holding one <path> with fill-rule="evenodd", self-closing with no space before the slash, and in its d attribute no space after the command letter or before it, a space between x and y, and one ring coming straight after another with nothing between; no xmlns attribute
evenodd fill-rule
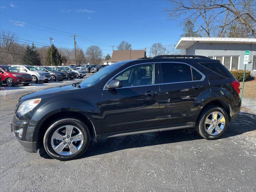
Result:
<svg viewBox="0 0 256 192"><path fill-rule="evenodd" d="M206 118L204 128L208 134L218 135L224 129L225 122L224 115L221 112L214 111Z"/></svg>

